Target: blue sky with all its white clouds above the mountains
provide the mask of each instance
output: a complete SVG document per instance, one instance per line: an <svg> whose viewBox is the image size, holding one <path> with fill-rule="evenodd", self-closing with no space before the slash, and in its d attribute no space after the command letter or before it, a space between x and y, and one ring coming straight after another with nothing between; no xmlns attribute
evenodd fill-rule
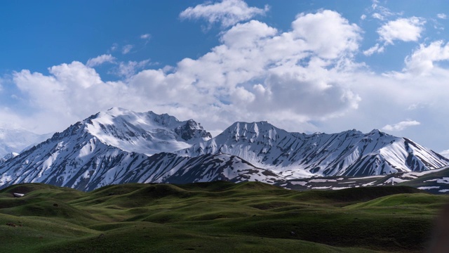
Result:
<svg viewBox="0 0 449 253"><path fill-rule="evenodd" d="M449 154L448 1L1 1L0 125L121 107ZM446 150L446 151L445 151Z"/></svg>

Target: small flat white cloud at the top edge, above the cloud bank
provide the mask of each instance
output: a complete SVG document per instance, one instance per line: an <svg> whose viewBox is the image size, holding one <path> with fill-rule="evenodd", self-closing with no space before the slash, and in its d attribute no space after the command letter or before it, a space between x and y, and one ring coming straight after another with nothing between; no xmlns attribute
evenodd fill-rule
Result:
<svg viewBox="0 0 449 253"><path fill-rule="evenodd" d="M222 27L229 27L238 22L249 20L255 15L264 15L269 10L249 7L243 0L223 0L212 4L206 2L195 7L189 7L180 13L182 19L205 19L210 25L219 22Z"/></svg>

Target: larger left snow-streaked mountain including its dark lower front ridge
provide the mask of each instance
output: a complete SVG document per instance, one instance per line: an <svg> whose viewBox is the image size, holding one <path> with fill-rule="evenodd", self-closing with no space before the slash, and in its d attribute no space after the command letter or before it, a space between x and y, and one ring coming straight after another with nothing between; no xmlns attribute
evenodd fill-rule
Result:
<svg viewBox="0 0 449 253"><path fill-rule="evenodd" d="M159 153L189 141L208 138L193 120L153 112L135 113L113 108L56 133L47 141L0 168L0 187L16 183L49 183L93 190L116 183L192 183L196 181L281 180L239 157L225 154L180 157ZM138 153L138 152L142 153ZM160 151L159 151L160 152Z"/></svg>

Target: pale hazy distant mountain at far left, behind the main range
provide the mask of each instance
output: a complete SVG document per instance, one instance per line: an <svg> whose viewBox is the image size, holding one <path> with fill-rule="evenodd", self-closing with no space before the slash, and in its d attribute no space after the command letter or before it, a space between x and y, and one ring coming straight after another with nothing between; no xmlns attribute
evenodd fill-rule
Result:
<svg viewBox="0 0 449 253"><path fill-rule="evenodd" d="M0 127L0 157L20 153L47 138L51 138L51 134L34 134L21 128Z"/></svg>

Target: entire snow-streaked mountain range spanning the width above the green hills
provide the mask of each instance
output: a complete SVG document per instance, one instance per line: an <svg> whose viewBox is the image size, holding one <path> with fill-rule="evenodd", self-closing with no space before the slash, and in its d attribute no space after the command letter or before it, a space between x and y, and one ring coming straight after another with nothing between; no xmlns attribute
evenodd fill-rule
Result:
<svg viewBox="0 0 449 253"><path fill-rule="evenodd" d="M385 177L448 165L438 153L378 130L300 134L268 122L236 122L212 137L193 119L112 108L0 162L0 188L216 180L293 188L316 177Z"/></svg>

